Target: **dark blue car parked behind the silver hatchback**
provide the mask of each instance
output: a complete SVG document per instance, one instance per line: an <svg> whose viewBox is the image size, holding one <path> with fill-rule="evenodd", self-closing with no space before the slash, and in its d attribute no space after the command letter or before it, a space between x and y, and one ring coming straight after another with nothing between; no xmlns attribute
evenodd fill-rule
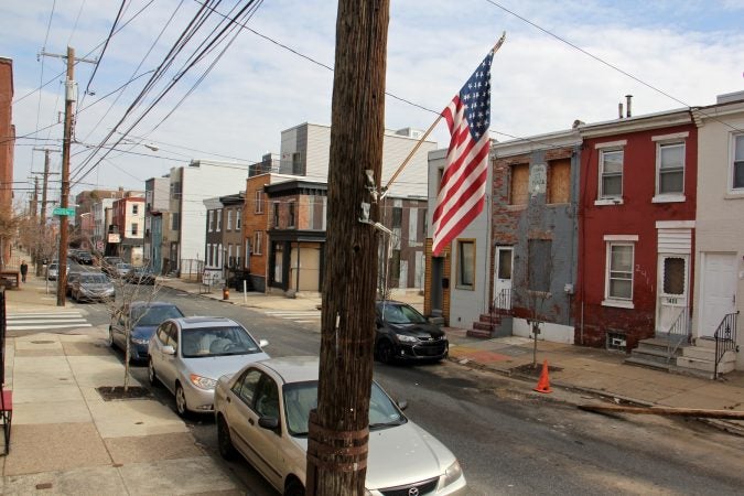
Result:
<svg viewBox="0 0 744 496"><path fill-rule="evenodd" d="M129 308L111 315L108 326L108 344L127 349L127 321L129 331L129 356L134 362L148 359L148 344L155 330L168 319L184 316L173 303L164 301L136 301Z"/></svg>

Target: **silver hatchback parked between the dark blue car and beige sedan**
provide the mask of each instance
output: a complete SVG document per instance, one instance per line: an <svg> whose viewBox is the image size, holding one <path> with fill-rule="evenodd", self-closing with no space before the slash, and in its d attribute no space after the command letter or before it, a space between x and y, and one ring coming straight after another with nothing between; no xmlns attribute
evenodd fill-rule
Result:
<svg viewBox="0 0 744 496"><path fill-rule="evenodd" d="M175 395L182 417L212 412L217 379L246 363L269 358L262 349L268 344L230 319L169 319L150 338L150 384L160 381Z"/></svg>

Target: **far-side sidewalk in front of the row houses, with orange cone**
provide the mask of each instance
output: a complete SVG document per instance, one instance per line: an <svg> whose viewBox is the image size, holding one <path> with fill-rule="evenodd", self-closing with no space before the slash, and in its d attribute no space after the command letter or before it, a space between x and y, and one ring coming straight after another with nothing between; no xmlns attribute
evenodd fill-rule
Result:
<svg viewBox="0 0 744 496"><path fill-rule="evenodd" d="M181 291L198 292L196 283L176 279L164 280L163 283ZM222 300L222 289L215 289L206 296ZM422 310L422 295L393 298ZM298 295L290 299L249 292L244 299L242 293L230 291L228 302L259 309L310 310L320 305L321 298ZM741 370L713 381L625 365L623 362L627 355L623 353L546 341L538 341L538 368L533 369L532 339L517 336L482 339L470 337L466 330L455 327L445 327L445 332L452 362L525 379L528 384L537 384L542 363L548 360L553 387L601 395L637 406L744 411L744 371ZM530 390L535 384L530 384ZM744 421L710 422L744 435Z"/></svg>

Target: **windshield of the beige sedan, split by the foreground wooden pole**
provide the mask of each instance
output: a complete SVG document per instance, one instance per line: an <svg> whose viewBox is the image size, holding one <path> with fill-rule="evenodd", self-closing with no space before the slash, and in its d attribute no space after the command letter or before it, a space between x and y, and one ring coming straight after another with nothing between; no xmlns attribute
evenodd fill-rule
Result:
<svg viewBox="0 0 744 496"><path fill-rule="evenodd" d="M317 381L284 385L284 416L290 435L306 436L310 410L317 407ZM369 398L369 429L387 429L406 423L408 419L377 382L373 382Z"/></svg>

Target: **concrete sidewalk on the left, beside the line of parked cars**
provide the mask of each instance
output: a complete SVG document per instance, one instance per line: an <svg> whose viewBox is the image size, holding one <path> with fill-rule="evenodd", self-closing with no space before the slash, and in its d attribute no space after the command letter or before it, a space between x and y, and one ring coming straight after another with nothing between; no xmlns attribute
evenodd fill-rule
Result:
<svg viewBox="0 0 744 496"><path fill-rule="evenodd" d="M9 315L61 311L53 289L28 280L6 292ZM7 339L14 411L0 493L244 494L170 408L152 398L103 399L97 387L123 384L105 337L105 328L82 327Z"/></svg>

